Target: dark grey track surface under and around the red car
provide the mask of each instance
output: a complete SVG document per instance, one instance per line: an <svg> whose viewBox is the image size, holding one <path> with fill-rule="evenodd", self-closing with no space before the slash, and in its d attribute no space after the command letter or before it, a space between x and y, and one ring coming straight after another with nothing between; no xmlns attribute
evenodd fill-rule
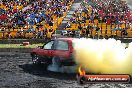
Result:
<svg viewBox="0 0 132 88"><path fill-rule="evenodd" d="M76 74L54 73L33 65L29 53L0 52L0 88L132 88L132 84L79 85Z"/></svg>

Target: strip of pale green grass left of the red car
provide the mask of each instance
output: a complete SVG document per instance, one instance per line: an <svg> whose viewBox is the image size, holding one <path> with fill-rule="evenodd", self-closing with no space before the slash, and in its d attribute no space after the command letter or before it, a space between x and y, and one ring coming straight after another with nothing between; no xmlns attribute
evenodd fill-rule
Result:
<svg viewBox="0 0 132 88"><path fill-rule="evenodd" d="M0 44L0 48L36 48L42 45L43 45L42 43L29 44L27 46L23 46L22 44Z"/></svg>

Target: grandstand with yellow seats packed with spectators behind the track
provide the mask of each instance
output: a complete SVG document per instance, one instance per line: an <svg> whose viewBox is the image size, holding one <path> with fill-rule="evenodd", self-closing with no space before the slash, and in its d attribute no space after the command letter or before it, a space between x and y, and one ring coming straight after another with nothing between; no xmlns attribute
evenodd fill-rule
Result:
<svg viewBox="0 0 132 88"><path fill-rule="evenodd" d="M0 39L51 38L57 29L81 36L132 37L132 13L121 0L83 0L67 25L59 28L78 0L8 0L0 2Z"/></svg>

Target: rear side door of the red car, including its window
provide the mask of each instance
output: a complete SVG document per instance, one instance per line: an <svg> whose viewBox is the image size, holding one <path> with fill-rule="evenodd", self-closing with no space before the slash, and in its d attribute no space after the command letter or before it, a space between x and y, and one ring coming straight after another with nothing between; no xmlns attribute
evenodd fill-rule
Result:
<svg viewBox="0 0 132 88"><path fill-rule="evenodd" d="M63 59L68 58L69 55L69 46L68 42L64 40L58 40L55 44L54 56L62 57Z"/></svg>

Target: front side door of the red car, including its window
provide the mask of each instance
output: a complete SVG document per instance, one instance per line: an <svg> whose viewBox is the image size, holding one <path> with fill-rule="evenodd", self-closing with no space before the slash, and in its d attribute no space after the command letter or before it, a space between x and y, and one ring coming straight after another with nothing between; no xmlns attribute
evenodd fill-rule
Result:
<svg viewBox="0 0 132 88"><path fill-rule="evenodd" d="M46 43L39 51L42 57L51 57L54 51L54 40Z"/></svg>

